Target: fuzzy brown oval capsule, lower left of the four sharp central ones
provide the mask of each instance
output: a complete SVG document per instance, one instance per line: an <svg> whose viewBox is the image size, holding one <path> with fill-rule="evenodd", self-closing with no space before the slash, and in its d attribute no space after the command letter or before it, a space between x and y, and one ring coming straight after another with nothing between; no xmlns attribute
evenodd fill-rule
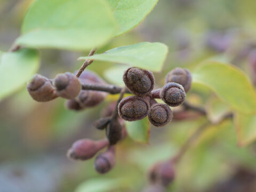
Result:
<svg viewBox="0 0 256 192"><path fill-rule="evenodd" d="M137 121L145 118L149 109L149 101L138 96L126 97L118 104L118 114L126 121Z"/></svg>

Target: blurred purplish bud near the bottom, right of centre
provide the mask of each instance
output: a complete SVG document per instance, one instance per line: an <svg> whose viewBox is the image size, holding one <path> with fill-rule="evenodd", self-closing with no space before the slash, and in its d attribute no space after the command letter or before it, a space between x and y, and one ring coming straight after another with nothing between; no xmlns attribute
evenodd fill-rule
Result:
<svg viewBox="0 0 256 192"><path fill-rule="evenodd" d="M168 186L175 178L174 164L172 161L154 164L149 171L149 179L153 183Z"/></svg>

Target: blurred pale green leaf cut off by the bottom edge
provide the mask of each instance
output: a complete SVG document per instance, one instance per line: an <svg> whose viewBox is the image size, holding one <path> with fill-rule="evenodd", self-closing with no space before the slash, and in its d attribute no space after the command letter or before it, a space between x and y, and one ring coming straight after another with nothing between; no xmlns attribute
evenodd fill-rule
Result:
<svg viewBox="0 0 256 192"><path fill-rule="evenodd" d="M123 179L90 179L81 183L75 192L107 192L122 188Z"/></svg>

